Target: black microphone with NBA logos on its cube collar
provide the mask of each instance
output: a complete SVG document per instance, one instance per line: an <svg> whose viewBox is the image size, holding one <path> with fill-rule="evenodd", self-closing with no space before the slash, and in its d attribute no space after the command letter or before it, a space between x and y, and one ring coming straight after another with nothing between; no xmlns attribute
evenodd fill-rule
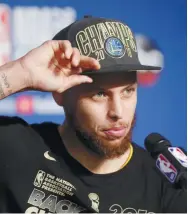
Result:
<svg viewBox="0 0 188 214"><path fill-rule="evenodd" d="M158 133L149 134L145 148L156 160L158 170L172 184L187 189L187 156L178 147L172 147L169 140Z"/></svg>

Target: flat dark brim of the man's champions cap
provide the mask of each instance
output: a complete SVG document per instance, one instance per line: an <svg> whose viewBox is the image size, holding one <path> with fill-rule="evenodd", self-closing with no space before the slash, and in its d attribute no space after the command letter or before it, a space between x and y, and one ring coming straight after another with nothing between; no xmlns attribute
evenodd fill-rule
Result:
<svg viewBox="0 0 188 214"><path fill-rule="evenodd" d="M149 66L149 65L133 65L133 64L127 64L127 65L113 65L113 66L107 66L102 67L99 70L88 70L85 71L85 74L94 74L94 73L109 73L109 72L131 72L131 71L157 71L161 70L161 67L157 66Z"/></svg>

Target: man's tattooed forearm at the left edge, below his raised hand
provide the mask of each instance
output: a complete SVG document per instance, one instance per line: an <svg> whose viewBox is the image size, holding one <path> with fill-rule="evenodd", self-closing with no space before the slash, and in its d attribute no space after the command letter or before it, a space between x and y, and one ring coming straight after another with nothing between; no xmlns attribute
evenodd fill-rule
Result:
<svg viewBox="0 0 188 214"><path fill-rule="evenodd" d="M19 60L0 66L0 100L28 87L28 72Z"/></svg>

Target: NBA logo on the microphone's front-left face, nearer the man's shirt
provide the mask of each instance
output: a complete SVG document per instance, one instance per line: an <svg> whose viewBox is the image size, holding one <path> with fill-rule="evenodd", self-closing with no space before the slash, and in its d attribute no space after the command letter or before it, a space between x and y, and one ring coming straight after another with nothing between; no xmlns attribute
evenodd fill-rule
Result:
<svg viewBox="0 0 188 214"><path fill-rule="evenodd" d="M164 155L160 154L158 156L156 166L171 183L174 183L177 170Z"/></svg>

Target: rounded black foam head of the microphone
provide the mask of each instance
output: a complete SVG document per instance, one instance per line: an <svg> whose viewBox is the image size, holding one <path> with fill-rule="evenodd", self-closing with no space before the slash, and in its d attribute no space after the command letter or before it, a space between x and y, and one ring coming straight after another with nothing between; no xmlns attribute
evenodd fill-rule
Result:
<svg viewBox="0 0 188 214"><path fill-rule="evenodd" d="M158 133L149 134L146 137L144 144L145 148L150 153L158 153L164 150L166 147L171 146L171 143Z"/></svg>

